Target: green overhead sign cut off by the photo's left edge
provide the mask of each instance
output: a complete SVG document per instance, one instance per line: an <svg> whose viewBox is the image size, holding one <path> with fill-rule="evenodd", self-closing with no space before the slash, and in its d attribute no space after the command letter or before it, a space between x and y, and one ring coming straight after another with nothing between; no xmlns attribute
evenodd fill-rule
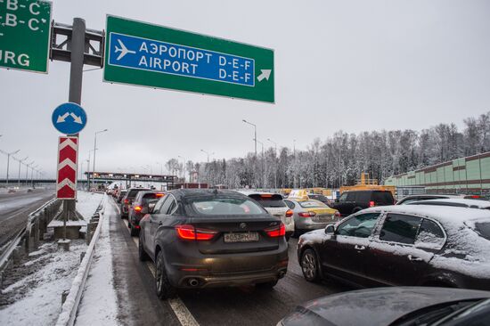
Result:
<svg viewBox="0 0 490 326"><path fill-rule="evenodd" d="M0 67L47 73L51 2L0 0Z"/></svg>

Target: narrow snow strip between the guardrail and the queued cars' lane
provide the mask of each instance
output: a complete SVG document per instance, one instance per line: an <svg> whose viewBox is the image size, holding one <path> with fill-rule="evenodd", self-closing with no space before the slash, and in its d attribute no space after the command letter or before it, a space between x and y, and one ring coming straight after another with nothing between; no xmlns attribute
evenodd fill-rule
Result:
<svg viewBox="0 0 490 326"><path fill-rule="evenodd" d="M106 200L108 198L106 197ZM104 211L107 208L104 205ZM110 249L109 215L102 216L101 234L95 246L94 261L78 307L78 326L118 325L118 298L114 289Z"/></svg>

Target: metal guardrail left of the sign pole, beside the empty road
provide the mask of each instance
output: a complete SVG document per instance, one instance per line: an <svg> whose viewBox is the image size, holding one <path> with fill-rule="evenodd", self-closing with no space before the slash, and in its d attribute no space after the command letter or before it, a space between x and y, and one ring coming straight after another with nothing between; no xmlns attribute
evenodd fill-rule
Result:
<svg viewBox="0 0 490 326"><path fill-rule="evenodd" d="M13 251L20 245L20 241L22 239L26 239L26 246L25 248L27 249L26 251L29 252L29 249L31 247L30 244L30 238L31 234L33 234L33 228L35 231L34 233L34 240L37 242L39 240L39 217L43 216L45 217L45 220L43 221L43 229L47 227L47 224L51 222L53 217L57 214L58 209L60 208L61 201L53 199L47 201L43 206L40 208L37 208L34 212L29 214L28 217L28 222L25 227L20 230L20 232L17 233L17 235L11 240L10 244L6 246L6 249L4 249L4 252L0 255L0 272L4 271L4 268L8 265L9 259L12 256ZM46 218L47 217L47 218ZM37 233L37 234L36 234Z"/></svg>

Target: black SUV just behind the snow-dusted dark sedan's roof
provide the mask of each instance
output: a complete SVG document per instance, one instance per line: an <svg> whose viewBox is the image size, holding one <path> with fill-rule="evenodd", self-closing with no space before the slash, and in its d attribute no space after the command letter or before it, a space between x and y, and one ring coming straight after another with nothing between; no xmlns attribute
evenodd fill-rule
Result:
<svg viewBox="0 0 490 326"><path fill-rule="evenodd" d="M338 200L331 204L341 216L349 216L364 208L395 204L393 194L388 191L350 191L343 192Z"/></svg>

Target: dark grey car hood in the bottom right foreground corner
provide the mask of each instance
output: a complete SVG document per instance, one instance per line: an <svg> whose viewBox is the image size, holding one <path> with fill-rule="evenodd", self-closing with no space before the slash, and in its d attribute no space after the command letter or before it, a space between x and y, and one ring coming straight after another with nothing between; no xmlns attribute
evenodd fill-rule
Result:
<svg viewBox="0 0 490 326"><path fill-rule="evenodd" d="M286 326L381 326L427 306L490 297L472 289L398 287L361 289L320 297L298 306L282 320Z"/></svg>

